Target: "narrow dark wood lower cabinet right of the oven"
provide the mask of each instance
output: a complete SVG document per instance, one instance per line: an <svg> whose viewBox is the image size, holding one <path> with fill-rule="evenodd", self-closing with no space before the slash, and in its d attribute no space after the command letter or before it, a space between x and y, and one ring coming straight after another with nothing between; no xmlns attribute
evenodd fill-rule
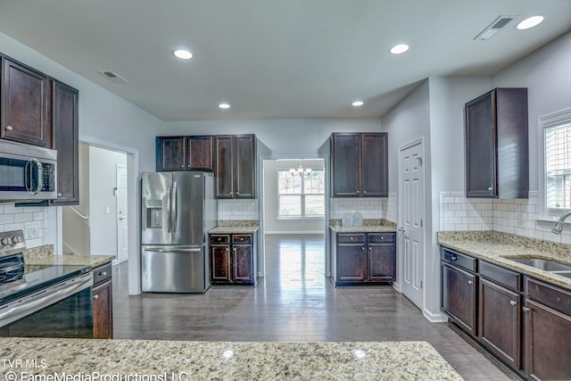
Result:
<svg viewBox="0 0 571 381"><path fill-rule="evenodd" d="M111 263L93 270L93 337L113 337L113 289Z"/></svg>

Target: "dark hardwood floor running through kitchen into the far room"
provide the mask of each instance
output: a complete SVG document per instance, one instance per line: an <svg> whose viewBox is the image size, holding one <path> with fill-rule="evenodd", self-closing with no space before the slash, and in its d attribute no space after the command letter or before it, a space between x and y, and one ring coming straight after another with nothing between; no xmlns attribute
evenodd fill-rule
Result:
<svg viewBox="0 0 571 381"><path fill-rule="evenodd" d="M323 236L267 236L258 285L205 294L128 295L113 273L115 338L204 341L427 341L467 380L517 379L451 325L434 324L392 286L334 287Z"/></svg>

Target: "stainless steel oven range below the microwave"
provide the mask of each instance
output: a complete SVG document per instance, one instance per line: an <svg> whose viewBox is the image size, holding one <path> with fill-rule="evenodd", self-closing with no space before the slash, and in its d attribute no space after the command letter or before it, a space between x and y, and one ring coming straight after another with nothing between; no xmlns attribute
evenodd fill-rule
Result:
<svg viewBox="0 0 571 381"><path fill-rule="evenodd" d="M21 231L0 234L0 336L93 337L91 268L25 264L22 244Z"/></svg>

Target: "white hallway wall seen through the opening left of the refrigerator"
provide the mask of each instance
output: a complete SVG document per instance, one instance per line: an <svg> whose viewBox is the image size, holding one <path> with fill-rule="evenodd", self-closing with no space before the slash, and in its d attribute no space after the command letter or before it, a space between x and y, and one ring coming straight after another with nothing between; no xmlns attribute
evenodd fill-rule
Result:
<svg viewBox="0 0 571 381"><path fill-rule="evenodd" d="M89 146L90 253L117 256L117 166L127 155ZM108 211L107 211L108 210Z"/></svg>

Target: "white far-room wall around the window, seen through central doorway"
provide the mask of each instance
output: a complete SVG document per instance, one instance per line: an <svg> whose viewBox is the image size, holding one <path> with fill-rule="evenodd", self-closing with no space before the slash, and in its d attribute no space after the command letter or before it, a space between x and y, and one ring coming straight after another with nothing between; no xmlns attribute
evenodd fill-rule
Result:
<svg viewBox="0 0 571 381"><path fill-rule="evenodd" d="M289 170L297 168L299 161L276 161L265 160L264 170L264 228L266 234L270 233L296 233L313 234L325 232L325 221L321 219L277 219L277 170ZM303 160L304 168L313 170L324 170L323 160ZM325 203L325 201L324 201Z"/></svg>

